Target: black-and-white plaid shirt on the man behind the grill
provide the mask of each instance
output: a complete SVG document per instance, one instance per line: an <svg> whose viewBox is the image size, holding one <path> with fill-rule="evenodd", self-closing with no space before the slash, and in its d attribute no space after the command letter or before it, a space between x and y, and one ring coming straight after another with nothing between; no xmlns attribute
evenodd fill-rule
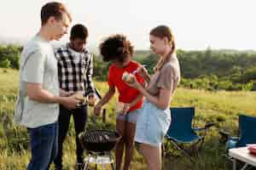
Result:
<svg viewBox="0 0 256 170"><path fill-rule="evenodd" d="M55 49L55 58L58 61L58 76L60 88L67 92L84 91L85 95L94 94L92 82L93 56L87 50L79 55L79 62L75 62L73 51L68 45Z"/></svg>

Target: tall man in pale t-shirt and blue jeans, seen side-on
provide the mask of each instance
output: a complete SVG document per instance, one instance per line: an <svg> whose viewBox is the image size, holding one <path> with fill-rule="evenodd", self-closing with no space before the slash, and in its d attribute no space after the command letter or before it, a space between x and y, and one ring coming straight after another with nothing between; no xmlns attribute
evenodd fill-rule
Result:
<svg viewBox="0 0 256 170"><path fill-rule="evenodd" d="M50 41L67 34L71 16L62 3L46 3L41 9L41 28L27 42L20 56L20 89L15 122L27 127L32 158L28 170L49 169L58 148L59 104L69 109L79 104L60 90L57 62Z"/></svg>

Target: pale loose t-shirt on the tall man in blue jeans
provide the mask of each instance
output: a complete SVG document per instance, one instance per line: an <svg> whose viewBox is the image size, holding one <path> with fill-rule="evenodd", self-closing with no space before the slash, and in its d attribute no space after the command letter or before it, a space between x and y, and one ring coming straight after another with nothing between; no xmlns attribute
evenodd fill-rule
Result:
<svg viewBox="0 0 256 170"><path fill-rule="evenodd" d="M53 48L38 36L26 43L20 56L20 93L24 95L24 110L18 123L33 128L56 122L59 105L29 99L26 93L27 82L39 83L49 93L59 95L57 62Z"/></svg>

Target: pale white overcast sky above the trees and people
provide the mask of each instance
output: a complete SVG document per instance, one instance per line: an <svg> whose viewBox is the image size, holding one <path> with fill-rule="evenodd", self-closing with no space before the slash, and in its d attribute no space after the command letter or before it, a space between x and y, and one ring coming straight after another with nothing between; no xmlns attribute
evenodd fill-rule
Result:
<svg viewBox="0 0 256 170"><path fill-rule="evenodd" d="M0 0L0 37L27 40L40 27L47 0ZM72 25L89 28L90 46L125 34L137 49L148 49L148 32L170 26L177 48L256 49L255 0L67 0ZM68 35L61 39L67 42Z"/></svg>

